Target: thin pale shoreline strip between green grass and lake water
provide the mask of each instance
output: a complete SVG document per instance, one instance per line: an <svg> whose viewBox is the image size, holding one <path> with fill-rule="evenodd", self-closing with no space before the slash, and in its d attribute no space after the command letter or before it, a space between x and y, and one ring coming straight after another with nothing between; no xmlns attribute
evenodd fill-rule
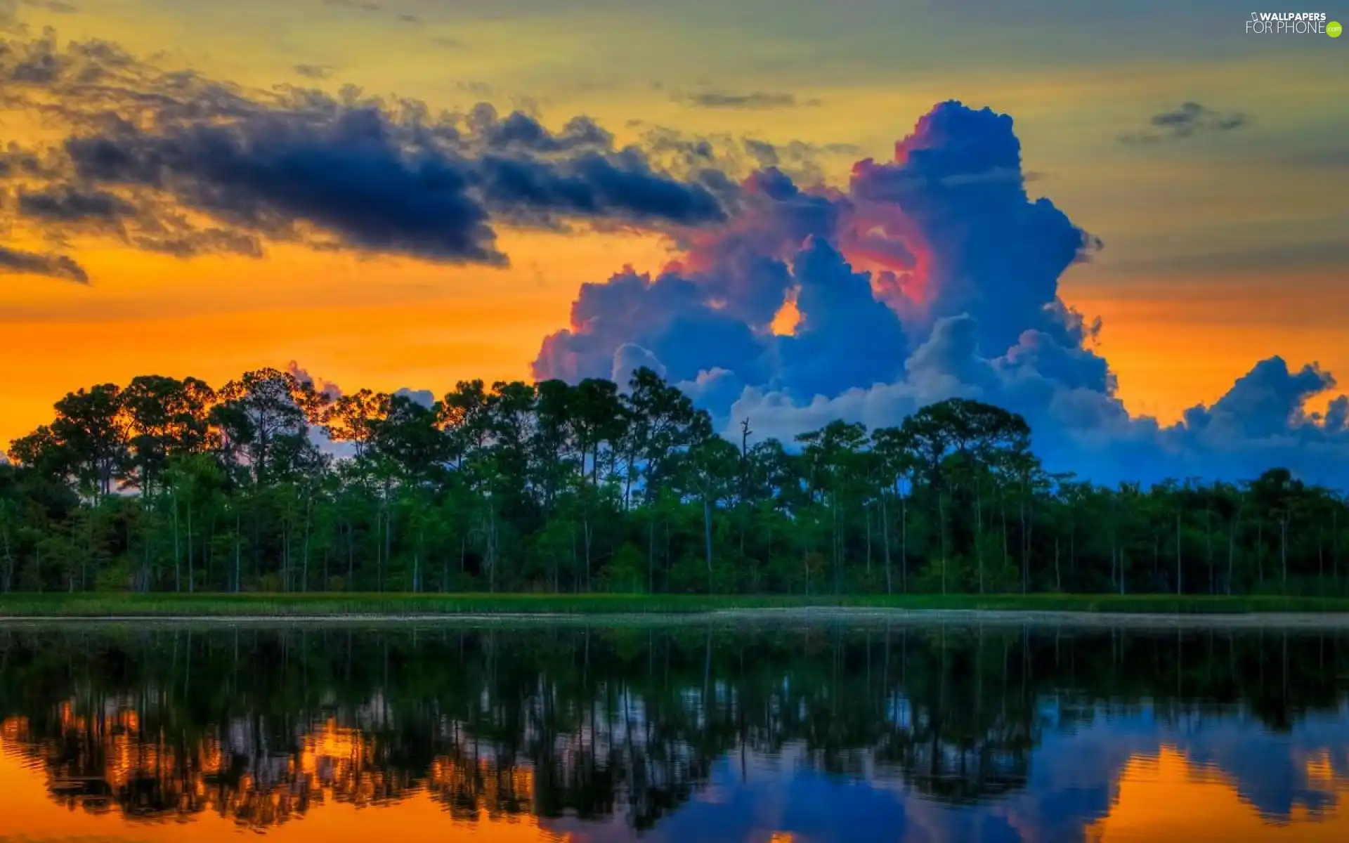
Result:
<svg viewBox="0 0 1349 843"><path fill-rule="evenodd" d="M437 614L256 614L256 615L0 615L12 626L697 626L738 624L902 624L1035 626L1129 630L1345 630L1349 612L1167 614L1047 610L958 610L876 607L724 608L695 612L437 612Z"/></svg>

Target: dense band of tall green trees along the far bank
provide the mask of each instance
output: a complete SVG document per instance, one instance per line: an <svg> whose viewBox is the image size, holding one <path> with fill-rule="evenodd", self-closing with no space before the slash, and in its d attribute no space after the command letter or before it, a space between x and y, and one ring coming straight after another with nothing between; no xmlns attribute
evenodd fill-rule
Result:
<svg viewBox="0 0 1349 843"><path fill-rule="evenodd" d="M645 368L440 401L272 368L81 388L0 463L0 591L1349 591L1349 500L1284 469L1106 487L969 399L737 425Z"/></svg>

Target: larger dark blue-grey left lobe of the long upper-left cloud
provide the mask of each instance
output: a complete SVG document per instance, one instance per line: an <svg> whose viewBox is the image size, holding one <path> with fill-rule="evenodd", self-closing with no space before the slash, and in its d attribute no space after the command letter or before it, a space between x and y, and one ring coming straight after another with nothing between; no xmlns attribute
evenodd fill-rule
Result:
<svg viewBox="0 0 1349 843"><path fill-rule="evenodd" d="M488 212L468 196L467 173L434 155L407 155L375 111L331 123L263 116L147 134L74 138L81 181L165 192L229 228L271 240L316 243L438 260L503 263Z"/></svg>

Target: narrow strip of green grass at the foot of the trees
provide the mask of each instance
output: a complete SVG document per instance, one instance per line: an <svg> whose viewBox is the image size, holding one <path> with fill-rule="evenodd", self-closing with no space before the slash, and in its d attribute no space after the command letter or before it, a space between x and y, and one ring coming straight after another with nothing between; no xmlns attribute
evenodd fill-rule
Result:
<svg viewBox="0 0 1349 843"><path fill-rule="evenodd" d="M863 607L1082 612L1349 612L1345 598L1168 595L410 595L410 593L11 593L0 618L247 618L313 615L650 615L735 608Z"/></svg>

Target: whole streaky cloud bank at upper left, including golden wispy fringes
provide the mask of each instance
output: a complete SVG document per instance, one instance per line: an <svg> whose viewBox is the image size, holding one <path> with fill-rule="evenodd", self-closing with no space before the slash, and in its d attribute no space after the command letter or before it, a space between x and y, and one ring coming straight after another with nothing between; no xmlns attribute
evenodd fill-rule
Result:
<svg viewBox="0 0 1349 843"><path fill-rule="evenodd" d="M496 224L665 231L723 221L733 198L716 173L677 178L585 117L553 131L486 104L251 92L50 32L0 43L0 107L69 129L19 174L20 223L58 240L97 228L177 255L290 241L503 264Z"/></svg>

